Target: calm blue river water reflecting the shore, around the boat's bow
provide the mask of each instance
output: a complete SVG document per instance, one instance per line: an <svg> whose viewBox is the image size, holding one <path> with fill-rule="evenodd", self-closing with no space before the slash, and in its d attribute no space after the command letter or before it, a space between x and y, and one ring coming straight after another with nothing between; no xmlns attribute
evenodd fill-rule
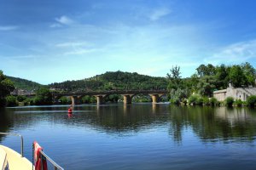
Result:
<svg viewBox="0 0 256 170"><path fill-rule="evenodd" d="M0 132L20 133L65 169L256 169L256 110L174 105L68 105L0 110ZM20 152L20 139L0 136Z"/></svg>

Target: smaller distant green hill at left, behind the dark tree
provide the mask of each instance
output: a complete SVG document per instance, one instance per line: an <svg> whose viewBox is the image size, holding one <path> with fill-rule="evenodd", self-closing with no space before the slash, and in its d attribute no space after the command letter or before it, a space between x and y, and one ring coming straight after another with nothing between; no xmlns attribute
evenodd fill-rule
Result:
<svg viewBox="0 0 256 170"><path fill-rule="evenodd" d="M7 77L7 78L9 78L9 80L14 82L15 88L17 89L32 91L40 87L43 87L43 85L39 84L38 82L32 82L32 81L22 79L22 78L17 78L17 77Z"/></svg>

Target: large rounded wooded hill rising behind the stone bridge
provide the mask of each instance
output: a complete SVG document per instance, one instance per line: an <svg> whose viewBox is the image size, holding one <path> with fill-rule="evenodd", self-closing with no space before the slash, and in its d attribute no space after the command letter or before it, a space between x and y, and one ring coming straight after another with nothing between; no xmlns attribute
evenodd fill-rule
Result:
<svg viewBox="0 0 256 170"><path fill-rule="evenodd" d="M137 72L108 71L83 80L51 83L49 88L65 91L150 90L166 89L167 84L165 77L149 77Z"/></svg>

